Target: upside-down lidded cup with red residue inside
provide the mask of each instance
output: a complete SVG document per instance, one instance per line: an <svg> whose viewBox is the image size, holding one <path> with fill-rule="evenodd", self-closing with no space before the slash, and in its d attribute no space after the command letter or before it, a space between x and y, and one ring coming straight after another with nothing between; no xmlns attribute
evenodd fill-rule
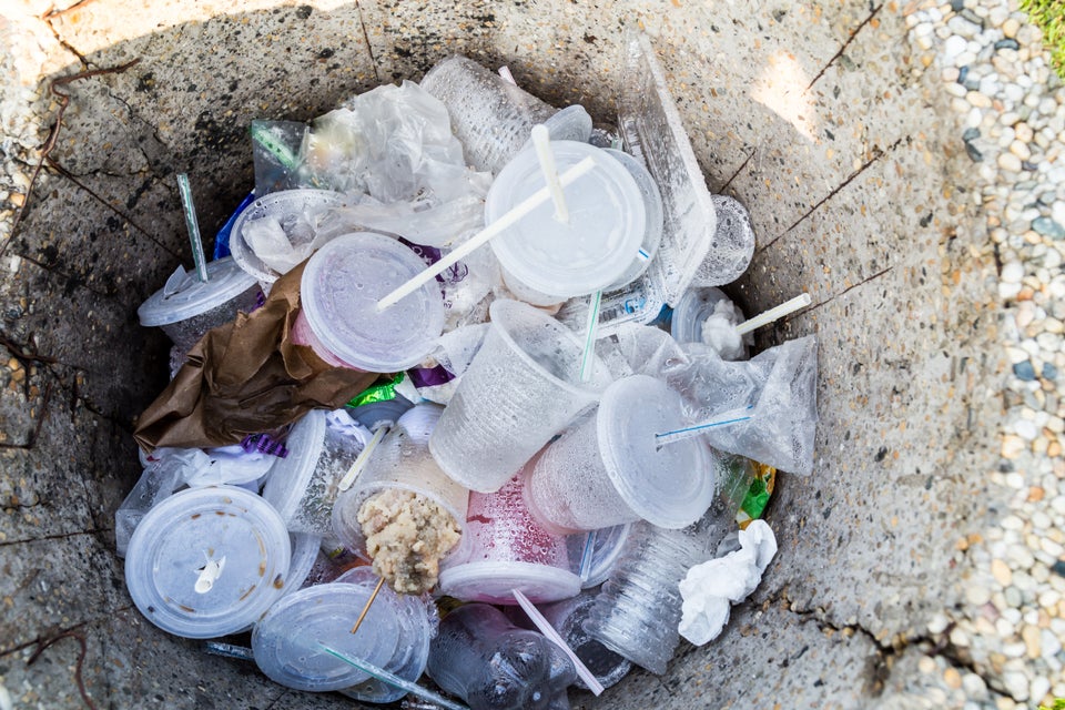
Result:
<svg viewBox="0 0 1065 710"><path fill-rule="evenodd" d="M567 599L580 591L564 536L550 532L529 514L515 476L496 493L469 496L468 556L445 562L439 590L464 601L514 605L518 589L534 604Z"/></svg>

